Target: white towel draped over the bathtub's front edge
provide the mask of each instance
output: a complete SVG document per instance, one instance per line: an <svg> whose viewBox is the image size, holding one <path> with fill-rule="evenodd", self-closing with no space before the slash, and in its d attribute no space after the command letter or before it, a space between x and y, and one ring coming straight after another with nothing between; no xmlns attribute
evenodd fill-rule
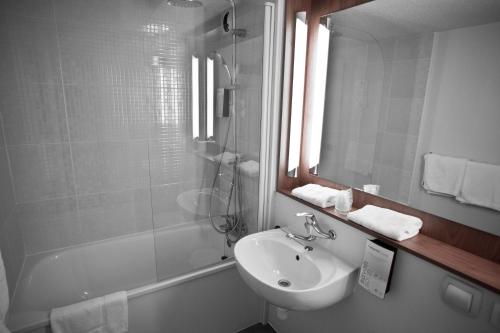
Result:
<svg viewBox="0 0 500 333"><path fill-rule="evenodd" d="M124 333L128 331L125 291L53 309L53 333Z"/></svg>

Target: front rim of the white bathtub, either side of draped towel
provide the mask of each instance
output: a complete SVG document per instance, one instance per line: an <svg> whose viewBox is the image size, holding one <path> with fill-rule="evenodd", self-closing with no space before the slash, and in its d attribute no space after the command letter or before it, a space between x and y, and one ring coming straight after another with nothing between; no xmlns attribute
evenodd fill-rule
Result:
<svg viewBox="0 0 500 333"><path fill-rule="evenodd" d="M219 262L216 264L212 264L209 266L206 266L204 268L185 273L179 276L174 276L172 278L168 278L156 283L151 283L145 286L137 287L131 290L127 290L127 299L130 301L135 298L139 298L141 296L149 295L152 293L155 293L157 291L160 291L162 289L170 288L170 287L175 287L177 285L190 282L193 280L200 279L202 277L206 277L209 275L213 275L231 268L236 267L236 260L234 257L230 257L223 262ZM42 311L40 311L42 312ZM50 311L46 311L46 316L43 320L37 320L28 323L27 325L21 325L19 324L17 327L13 327L9 329L13 333L25 333L29 332L35 329L39 329L42 327L46 327L50 325Z"/></svg>

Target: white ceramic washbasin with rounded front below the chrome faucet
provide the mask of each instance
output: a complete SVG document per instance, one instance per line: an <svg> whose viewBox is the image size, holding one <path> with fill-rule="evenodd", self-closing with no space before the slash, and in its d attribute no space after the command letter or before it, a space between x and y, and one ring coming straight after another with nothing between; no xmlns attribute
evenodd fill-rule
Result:
<svg viewBox="0 0 500 333"><path fill-rule="evenodd" d="M268 230L239 240L234 256L243 280L278 307L316 310L349 296L357 269L315 242L307 245L313 250L306 251L303 245L287 238L283 230Z"/></svg>

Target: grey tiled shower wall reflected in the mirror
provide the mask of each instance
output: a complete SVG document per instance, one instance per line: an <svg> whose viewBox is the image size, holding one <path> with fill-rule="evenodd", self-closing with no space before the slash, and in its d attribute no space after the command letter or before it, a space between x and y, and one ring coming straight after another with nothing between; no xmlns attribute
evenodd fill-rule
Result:
<svg viewBox="0 0 500 333"><path fill-rule="evenodd" d="M320 176L407 203L433 35L334 41Z"/></svg>

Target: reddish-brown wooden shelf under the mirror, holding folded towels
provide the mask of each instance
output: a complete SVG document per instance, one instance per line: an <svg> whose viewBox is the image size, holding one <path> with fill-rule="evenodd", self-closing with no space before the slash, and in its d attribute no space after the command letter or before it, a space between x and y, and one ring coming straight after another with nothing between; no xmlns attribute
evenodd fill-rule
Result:
<svg viewBox="0 0 500 333"><path fill-rule="evenodd" d="M336 213L332 208L321 208L313 205L307 201L294 197L288 190L278 190L278 192L292 200L321 211L353 228L381 239L389 245L411 253L500 294L500 264L495 261L487 260L424 234L418 234L413 238L399 242L355 222L349 221L346 216Z"/></svg>

